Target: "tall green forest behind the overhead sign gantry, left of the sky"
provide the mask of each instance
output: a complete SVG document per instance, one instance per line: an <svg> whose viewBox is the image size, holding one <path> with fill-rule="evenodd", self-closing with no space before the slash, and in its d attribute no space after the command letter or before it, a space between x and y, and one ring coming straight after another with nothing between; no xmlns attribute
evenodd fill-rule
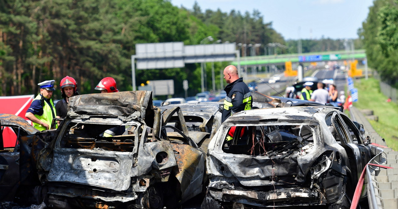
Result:
<svg viewBox="0 0 398 209"><path fill-rule="evenodd" d="M287 48L279 53L296 53L297 42L285 41L257 10L202 11L178 8L168 0L13 0L0 1L0 94L37 94L37 83L66 75L78 82L82 94L95 93L103 77L114 77L119 90L131 90L131 55L135 44L182 41L261 44L278 42ZM340 40L303 40L302 52L338 50ZM209 42L211 44L212 42ZM337 47L337 48L336 48ZM336 49L335 49L336 48ZM242 55L244 53L242 52ZM249 50L247 55L249 55ZM215 63L216 86L220 69ZM206 65L207 90L211 89L211 63ZM173 79L175 95L183 96L182 81L188 80L189 96L200 91L200 65L178 69L136 71L137 85L148 80ZM60 93L55 93L60 98Z"/></svg>

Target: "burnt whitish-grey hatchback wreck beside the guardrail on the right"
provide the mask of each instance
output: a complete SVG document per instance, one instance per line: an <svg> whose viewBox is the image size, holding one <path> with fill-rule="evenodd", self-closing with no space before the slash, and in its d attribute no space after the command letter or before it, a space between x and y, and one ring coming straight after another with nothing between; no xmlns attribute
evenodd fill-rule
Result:
<svg viewBox="0 0 398 209"><path fill-rule="evenodd" d="M209 144L210 182L202 208L348 208L373 156L369 143L333 108L241 111L222 124Z"/></svg>

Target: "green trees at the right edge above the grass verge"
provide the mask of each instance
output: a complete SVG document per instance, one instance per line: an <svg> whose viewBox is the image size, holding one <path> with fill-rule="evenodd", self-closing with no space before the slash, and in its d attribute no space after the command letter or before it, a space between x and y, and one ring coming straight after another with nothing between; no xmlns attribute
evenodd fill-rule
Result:
<svg viewBox="0 0 398 209"><path fill-rule="evenodd" d="M362 26L360 38L368 65L398 88L398 0L373 1Z"/></svg>

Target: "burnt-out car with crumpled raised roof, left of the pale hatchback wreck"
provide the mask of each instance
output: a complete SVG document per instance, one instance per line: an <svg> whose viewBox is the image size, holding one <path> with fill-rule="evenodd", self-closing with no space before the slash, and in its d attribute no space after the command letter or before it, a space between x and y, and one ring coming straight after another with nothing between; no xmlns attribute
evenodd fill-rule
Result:
<svg viewBox="0 0 398 209"><path fill-rule="evenodd" d="M166 125L174 114L180 128ZM74 96L59 128L33 139L34 196L53 208L176 207L203 192L198 144L210 135L184 124L179 107L161 114L152 92ZM121 132L101 135L115 127Z"/></svg>

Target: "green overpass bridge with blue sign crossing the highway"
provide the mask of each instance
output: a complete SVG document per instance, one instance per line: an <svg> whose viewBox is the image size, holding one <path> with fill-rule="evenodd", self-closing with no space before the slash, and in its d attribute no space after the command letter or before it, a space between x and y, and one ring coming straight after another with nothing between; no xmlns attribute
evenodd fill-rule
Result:
<svg viewBox="0 0 398 209"><path fill-rule="evenodd" d="M297 62L318 62L318 61L339 61L349 59L365 59L365 50L354 51L330 51L330 52L310 52L302 54L278 54L267 56L241 57L240 65L245 66L264 66L271 64L285 64L286 61ZM232 65L238 65L238 61L233 61Z"/></svg>

